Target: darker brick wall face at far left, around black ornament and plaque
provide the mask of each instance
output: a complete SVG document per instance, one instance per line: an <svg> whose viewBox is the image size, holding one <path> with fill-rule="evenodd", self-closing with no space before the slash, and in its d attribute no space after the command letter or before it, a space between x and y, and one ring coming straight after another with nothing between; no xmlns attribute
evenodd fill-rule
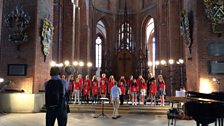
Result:
<svg viewBox="0 0 224 126"><path fill-rule="evenodd" d="M17 0L4 1L3 9L4 13L2 17L6 17L17 6ZM28 92L32 92L33 86L33 72L35 61L35 28L36 28L36 2L30 2L30 0L18 1L23 10L30 16L31 24L27 29L28 41L20 46L16 46L15 43L8 41L8 35L10 29L6 26L4 19L2 20L2 36L1 36L1 76L13 80L18 88L26 89ZM7 76L8 64L27 64L26 76Z"/></svg>

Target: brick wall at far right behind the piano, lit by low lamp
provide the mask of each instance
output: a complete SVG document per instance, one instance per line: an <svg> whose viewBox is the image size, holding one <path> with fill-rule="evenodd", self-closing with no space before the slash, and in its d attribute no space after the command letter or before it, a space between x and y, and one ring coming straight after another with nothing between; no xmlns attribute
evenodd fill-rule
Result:
<svg viewBox="0 0 224 126"><path fill-rule="evenodd" d="M221 79L221 83L224 78L222 75L210 74L208 62L223 61L224 56L209 56L208 44L224 41L223 36L212 32L211 21L206 16L203 0L185 1L184 8L187 12L193 12L192 59L186 60L187 89L205 93L219 91L219 86L212 81L212 78ZM186 56L188 56L187 49ZM222 85L220 89L223 90Z"/></svg>

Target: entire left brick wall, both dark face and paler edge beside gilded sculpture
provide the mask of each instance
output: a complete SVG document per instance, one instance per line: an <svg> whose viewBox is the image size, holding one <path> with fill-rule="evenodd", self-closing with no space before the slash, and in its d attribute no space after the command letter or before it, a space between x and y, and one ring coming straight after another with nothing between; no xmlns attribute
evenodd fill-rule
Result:
<svg viewBox="0 0 224 126"><path fill-rule="evenodd" d="M23 10L31 19L26 31L28 41L20 46L8 41L10 29L5 22L2 23L0 75L6 80L12 80L17 88L25 90L26 93L36 93L39 89L43 89L44 82L50 77L52 51L50 50L50 55L44 62L41 32L44 18L53 21L53 0L7 0L4 1L2 17L11 13L17 5L22 5ZM25 76L8 75L8 64L26 64L27 74Z"/></svg>

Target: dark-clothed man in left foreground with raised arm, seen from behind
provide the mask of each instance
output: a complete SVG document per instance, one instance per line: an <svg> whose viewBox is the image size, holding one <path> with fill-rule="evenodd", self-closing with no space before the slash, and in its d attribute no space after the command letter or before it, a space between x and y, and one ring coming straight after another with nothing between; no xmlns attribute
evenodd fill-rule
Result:
<svg viewBox="0 0 224 126"><path fill-rule="evenodd" d="M58 67L52 67L50 70L51 79L45 83L45 101L46 101L46 126L54 126L55 120L58 120L58 126L66 126L67 125L67 101L65 98L65 92L68 89L68 83L71 78L71 75L68 75L67 80L62 80L60 78L60 69ZM58 87L59 93L56 96L60 97L60 100L57 105L50 105L51 100L54 98L50 98L52 93L52 86L50 84ZM55 91L57 92L57 91ZM55 98L57 99L57 98Z"/></svg>

